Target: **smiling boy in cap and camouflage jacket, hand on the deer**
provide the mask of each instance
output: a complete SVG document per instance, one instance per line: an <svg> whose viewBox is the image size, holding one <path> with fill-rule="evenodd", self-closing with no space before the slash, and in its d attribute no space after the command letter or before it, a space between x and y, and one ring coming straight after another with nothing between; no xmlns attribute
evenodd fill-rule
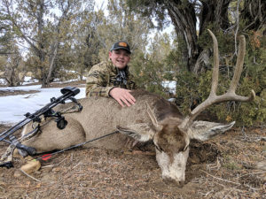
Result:
<svg viewBox="0 0 266 199"><path fill-rule="evenodd" d="M86 80L86 96L113 97L124 107L136 103L131 89L137 85L129 73L130 48L127 42L115 42L109 51L109 61L93 65Z"/></svg>

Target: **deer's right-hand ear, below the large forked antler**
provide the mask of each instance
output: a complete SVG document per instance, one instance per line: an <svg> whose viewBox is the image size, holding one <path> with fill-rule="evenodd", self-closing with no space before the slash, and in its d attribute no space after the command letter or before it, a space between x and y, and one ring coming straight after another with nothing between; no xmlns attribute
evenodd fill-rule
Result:
<svg viewBox="0 0 266 199"><path fill-rule="evenodd" d="M234 124L234 121L228 125L207 121L194 121L192 126L188 129L188 134L191 139L207 141L216 134L222 134L223 132L231 129Z"/></svg>

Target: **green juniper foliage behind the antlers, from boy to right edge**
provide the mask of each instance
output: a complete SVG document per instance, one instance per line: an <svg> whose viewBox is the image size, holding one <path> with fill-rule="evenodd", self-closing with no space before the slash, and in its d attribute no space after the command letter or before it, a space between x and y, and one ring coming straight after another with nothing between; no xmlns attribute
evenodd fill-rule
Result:
<svg viewBox="0 0 266 199"><path fill-rule="evenodd" d="M236 64L235 45L232 42L234 36L229 34L224 38L223 33L215 34L217 34L221 57L217 95L223 95L230 87ZM201 42L202 46L213 48L209 34L202 34L201 39L199 43ZM166 35L155 35L149 54L144 54L141 50L134 53L131 69L140 87L165 97L168 97L168 90L161 86L162 81L176 80L176 104L186 115L192 108L207 99L211 88L212 68L198 75L188 72L179 50L184 42L181 40L176 45L175 42L169 44L167 41ZM236 92L240 96L249 96L251 89L254 89L256 93L254 102L227 102L212 105L205 111L209 114L208 119L224 123L235 120L239 126L259 125L265 122L265 50L254 48L250 41L246 42L245 65ZM260 43L263 43L262 38L260 38ZM176 45L176 48L166 47L168 45ZM257 63L254 63L254 57Z"/></svg>

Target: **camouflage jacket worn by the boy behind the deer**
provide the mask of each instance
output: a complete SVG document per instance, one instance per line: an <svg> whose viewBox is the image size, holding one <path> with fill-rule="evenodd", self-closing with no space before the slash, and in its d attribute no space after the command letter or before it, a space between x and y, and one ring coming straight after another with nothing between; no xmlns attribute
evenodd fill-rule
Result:
<svg viewBox="0 0 266 199"><path fill-rule="evenodd" d="M116 87L137 88L128 66L125 69L124 80L119 80L118 74L118 68L111 61L93 65L86 80L86 96L109 96L110 90Z"/></svg>

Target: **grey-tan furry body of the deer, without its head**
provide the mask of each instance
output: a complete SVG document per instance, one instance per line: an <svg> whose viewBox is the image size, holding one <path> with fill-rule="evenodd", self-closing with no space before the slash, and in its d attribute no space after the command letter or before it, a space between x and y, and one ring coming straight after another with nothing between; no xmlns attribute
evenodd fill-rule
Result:
<svg viewBox="0 0 266 199"><path fill-rule="evenodd" d="M68 122L66 128L60 130L56 123L50 119L47 124L43 122L40 134L23 142L23 144L35 147L38 153L53 149L65 149L74 144L112 133L118 130L119 126L128 128L132 126L134 129L139 127L140 130L144 130L139 141L149 141L153 138L154 130L146 111L146 103L153 107L158 100L165 103L168 103L168 101L144 90L133 91L133 95L137 98L137 104L124 108L112 98L90 97L80 99L78 101L83 106L82 111L64 115ZM74 103L59 105L58 109L67 109L72 105ZM148 126L151 126L151 129L145 129ZM27 134L30 130L32 130L32 127L29 124L25 126L22 134ZM101 141L91 142L90 146L121 149L125 145L126 137L125 134L114 134ZM56 141L56 143L51 144L53 141Z"/></svg>

